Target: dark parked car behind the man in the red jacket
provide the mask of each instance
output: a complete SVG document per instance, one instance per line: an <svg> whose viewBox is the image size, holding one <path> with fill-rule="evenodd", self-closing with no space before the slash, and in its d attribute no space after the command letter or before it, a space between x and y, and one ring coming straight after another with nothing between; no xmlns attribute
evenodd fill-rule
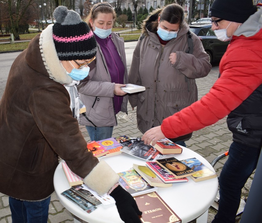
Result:
<svg viewBox="0 0 262 223"><path fill-rule="evenodd" d="M212 24L189 26L189 30L196 34L201 40L204 50L209 55L209 62L214 62L219 61L222 58L230 41L222 42L217 39L216 34L211 30L211 26Z"/></svg>

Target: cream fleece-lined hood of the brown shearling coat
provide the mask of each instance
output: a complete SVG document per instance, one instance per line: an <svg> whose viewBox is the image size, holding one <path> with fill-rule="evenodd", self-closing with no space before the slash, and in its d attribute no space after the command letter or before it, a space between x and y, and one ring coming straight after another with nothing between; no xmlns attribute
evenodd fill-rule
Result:
<svg viewBox="0 0 262 223"><path fill-rule="evenodd" d="M73 79L62 67L53 41L53 25L50 24L41 34L38 34L29 44L26 52L28 66L37 72L49 76L61 84L70 84ZM39 52L41 52L39 54Z"/></svg>

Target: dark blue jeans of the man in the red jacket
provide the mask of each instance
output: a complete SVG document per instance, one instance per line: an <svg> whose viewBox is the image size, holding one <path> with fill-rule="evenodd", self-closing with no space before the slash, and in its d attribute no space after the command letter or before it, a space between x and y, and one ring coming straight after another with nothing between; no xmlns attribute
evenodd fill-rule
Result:
<svg viewBox="0 0 262 223"><path fill-rule="evenodd" d="M256 169L261 149L232 142L229 157L219 176L218 212L212 223L235 223L241 190Z"/></svg>

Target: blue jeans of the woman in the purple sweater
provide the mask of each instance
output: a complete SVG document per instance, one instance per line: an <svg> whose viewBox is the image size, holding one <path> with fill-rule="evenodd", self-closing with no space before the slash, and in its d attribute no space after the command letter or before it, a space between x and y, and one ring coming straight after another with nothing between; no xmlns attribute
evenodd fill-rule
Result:
<svg viewBox="0 0 262 223"><path fill-rule="evenodd" d="M93 126L86 125L85 128L87 129L91 141L99 141L99 140L111 138L113 134L114 126L93 127Z"/></svg>

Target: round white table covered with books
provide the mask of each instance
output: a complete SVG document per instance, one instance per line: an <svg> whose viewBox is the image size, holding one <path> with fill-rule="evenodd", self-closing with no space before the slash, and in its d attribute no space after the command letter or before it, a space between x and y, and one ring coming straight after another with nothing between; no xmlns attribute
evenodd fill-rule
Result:
<svg viewBox="0 0 262 223"><path fill-rule="evenodd" d="M170 157L170 156L167 156ZM181 154L172 155L178 160L196 157L203 162L210 169L214 170L209 162L194 151L183 147ZM103 157L116 173L120 173L132 168L133 163L138 165L145 165L145 160L135 158L133 156L121 153L112 157ZM158 187L158 194L165 200L165 202L173 209L173 211L182 219L183 223L196 219L197 223L206 223L208 217L208 208L213 203L217 190L218 180L212 178L200 182L194 182L188 177L188 182L174 183L172 187L164 188ZM66 209L68 209L74 216L87 221L89 223L122 223L117 208L115 205L105 206L103 204L97 205L97 209L92 213L86 213L73 202L62 196L61 193L70 188L65 174L60 163L54 173L54 188L55 192ZM80 222L80 221L75 221Z"/></svg>

